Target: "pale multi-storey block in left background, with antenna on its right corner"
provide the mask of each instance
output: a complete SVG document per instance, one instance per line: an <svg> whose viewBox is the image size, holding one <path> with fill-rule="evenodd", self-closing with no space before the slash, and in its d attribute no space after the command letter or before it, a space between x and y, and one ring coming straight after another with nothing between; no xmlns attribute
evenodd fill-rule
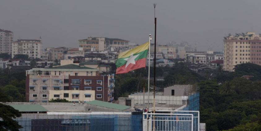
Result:
<svg viewBox="0 0 261 131"><path fill-rule="evenodd" d="M28 55L29 58L41 58L42 42L39 40L19 39L12 43L12 58L17 54Z"/></svg>

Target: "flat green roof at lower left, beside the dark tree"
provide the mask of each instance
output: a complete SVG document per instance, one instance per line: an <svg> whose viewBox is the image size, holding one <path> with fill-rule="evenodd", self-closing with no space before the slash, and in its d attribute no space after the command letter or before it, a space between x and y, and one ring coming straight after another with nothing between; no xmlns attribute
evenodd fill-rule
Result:
<svg viewBox="0 0 261 131"><path fill-rule="evenodd" d="M25 105L10 105L11 107L19 110L19 112L48 112L48 110L41 105L33 104L25 104Z"/></svg>

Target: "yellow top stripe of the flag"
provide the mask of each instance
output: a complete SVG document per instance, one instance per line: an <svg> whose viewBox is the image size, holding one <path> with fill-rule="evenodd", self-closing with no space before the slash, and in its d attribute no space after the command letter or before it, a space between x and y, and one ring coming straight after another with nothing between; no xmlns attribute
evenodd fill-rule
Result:
<svg viewBox="0 0 261 131"><path fill-rule="evenodd" d="M144 43L140 46L137 46L133 49L130 49L130 50L127 50L127 51L120 53L118 58L129 57L131 54L140 53L140 52L147 50L147 49L149 49L149 42L146 42L146 43Z"/></svg>

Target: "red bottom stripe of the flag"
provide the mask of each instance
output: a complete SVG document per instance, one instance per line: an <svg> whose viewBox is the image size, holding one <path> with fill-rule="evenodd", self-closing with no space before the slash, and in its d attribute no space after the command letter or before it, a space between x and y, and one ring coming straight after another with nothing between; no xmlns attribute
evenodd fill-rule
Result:
<svg viewBox="0 0 261 131"><path fill-rule="evenodd" d="M129 71L136 70L142 67L146 67L146 58L139 59L135 61L135 64L130 63L127 68L125 68L126 64L120 66L116 69L116 74L124 74L128 73Z"/></svg>

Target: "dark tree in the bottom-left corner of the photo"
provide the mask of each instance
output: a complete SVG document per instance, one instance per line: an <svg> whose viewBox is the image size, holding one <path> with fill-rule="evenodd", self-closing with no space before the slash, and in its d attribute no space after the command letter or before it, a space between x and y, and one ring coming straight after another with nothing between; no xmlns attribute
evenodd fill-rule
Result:
<svg viewBox="0 0 261 131"><path fill-rule="evenodd" d="M20 117L21 114L9 105L0 104L0 130L1 131L19 131L22 128L17 121L13 120Z"/></svg>

